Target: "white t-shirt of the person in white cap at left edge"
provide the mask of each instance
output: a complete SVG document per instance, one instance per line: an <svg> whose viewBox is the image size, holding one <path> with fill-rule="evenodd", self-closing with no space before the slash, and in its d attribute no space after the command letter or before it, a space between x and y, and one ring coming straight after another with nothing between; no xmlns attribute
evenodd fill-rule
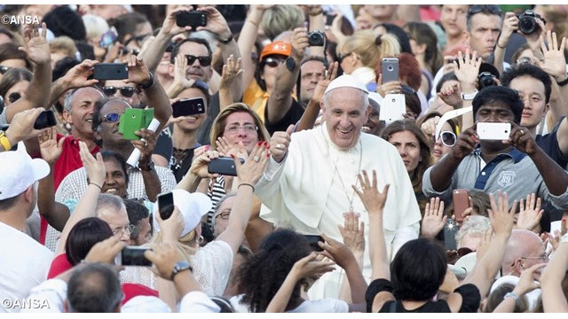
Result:
<svg viewBox="0 0 568 319"><path fill-rule="evenodd" d="M26 233L0 222L0 300L28 298L50 270L53 253ZM20 312L20 307L0 306L2 312Z"/></svg>

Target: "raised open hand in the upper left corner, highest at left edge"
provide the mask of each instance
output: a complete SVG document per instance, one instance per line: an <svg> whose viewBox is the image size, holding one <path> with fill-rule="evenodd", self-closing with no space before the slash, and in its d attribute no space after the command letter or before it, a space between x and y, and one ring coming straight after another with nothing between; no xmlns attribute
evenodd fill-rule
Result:
<svg viewBox="0 0 568 319"><path fill-rule="evenodd" d="M44 65L51 63L50 46L45 39L47 35L47 26L42 23L42 34L39 33L37 25L26 26L24 28L24 46L19 47L20 51L24 51L28 59L36 65Z"/></svg>

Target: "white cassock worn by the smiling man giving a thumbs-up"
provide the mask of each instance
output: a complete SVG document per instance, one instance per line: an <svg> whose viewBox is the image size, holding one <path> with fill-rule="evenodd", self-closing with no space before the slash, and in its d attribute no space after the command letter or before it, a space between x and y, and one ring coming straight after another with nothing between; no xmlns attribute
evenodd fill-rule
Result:
<svg viewBox="0 0 568 319"><path fill-rule="evenodd" d="M367 170L369 179L377 173L377 188L390 184L384 208L383 227L390 259L400 246L418 237L420 208L406 168L397 149L378 136L361 133L359 142L348 151L340 151L332 143L325 123L319 128L296 132L286 159L277 163L272 158L261 180L256 196L263 202L260 216L276 227L292 228L299 233L320 232L343 242L337 228L343 225L343 213L350 202L353 211L365 222L366 252L363 276L371 278L368 256L368 214L351 185L359 185L357 175ZM310 298L337 298L343 269L322 276L310 290Z"/></svg>

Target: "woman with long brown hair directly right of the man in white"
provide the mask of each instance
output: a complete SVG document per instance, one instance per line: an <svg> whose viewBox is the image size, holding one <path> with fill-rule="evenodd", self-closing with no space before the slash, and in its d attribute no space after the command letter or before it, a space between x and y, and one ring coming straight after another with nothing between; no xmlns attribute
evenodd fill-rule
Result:
<svg viewBox="0 0 568 319"><path fill-rule="evenodd" d="M410 176L420 211L423 212L428 198L422 193L422 176L432 164L428 139L414 121L408 120L390 123L384 128L381 137L397 148Z"/></svg>

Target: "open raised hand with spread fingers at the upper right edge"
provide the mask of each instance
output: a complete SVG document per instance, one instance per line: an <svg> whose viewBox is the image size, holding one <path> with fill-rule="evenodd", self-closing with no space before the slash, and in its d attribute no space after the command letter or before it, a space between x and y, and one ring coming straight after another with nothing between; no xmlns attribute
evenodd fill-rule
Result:
<svg viewBox="0 0 568 319"><path fill-rule="evenodd" d="M544 43L544 36L540 36L540 50L544 56L544 61L538 58L534 59L536 66L539 66L546 73L552 75L556 82L562 82L566 79L566 58L564 58L564 49L566 47L566 38L562 38L562 43L558 47L556 32L547 31L548 47Z"/></svg>

